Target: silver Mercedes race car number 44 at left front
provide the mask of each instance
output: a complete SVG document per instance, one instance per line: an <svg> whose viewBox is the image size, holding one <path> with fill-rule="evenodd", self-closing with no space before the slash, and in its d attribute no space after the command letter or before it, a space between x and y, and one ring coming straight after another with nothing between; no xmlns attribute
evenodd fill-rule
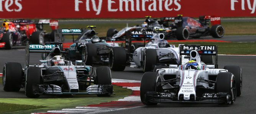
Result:
<svg viewBox="0 0 256 114"><path fill-rule="evenodd" d="M30 53L49 52L39 65L29 65ZM82 60L64 60L62 43L47 45L30 44L26 47L25 69L20 63L5 63L3 68L3 90L18 92L25 89L29 98L39 95L93 94L110 96L113 93L111 73L108 67L86 66ZM93 84L93 85L92 85Z"/></svg>

